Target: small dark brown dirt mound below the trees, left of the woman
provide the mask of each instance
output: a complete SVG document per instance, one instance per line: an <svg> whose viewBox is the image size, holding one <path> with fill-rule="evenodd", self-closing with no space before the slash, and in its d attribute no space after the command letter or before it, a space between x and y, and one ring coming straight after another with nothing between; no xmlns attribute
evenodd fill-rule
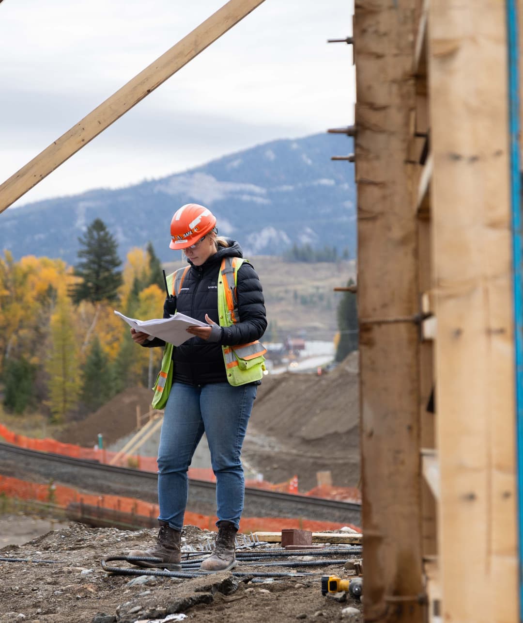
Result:
<svg viewBox="0 0 523 623"><path fill-rule="evenodd" d="M126 389L84 420L67 426L57 439L66 444L92 447L101 433L104 447L107 447L136 429L136 406L141 414L146 414L151 409L152 399L150 389Z"/></svg>

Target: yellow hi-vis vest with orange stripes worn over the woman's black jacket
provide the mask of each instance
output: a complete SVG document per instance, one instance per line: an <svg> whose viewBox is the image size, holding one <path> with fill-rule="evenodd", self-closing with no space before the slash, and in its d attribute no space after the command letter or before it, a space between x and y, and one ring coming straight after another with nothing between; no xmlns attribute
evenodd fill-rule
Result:
<svg viewBox="0 0 523 623"><path fill-rule="evenodd" d="M239 321L236 284L238 269L244 261L240 257L225 257L220 265L218 278L218 315L220 326L231 326ZM167 275L167 288L171 293L180 292L189 266L178 269ZM172 350L174 346L167 343L164 349L161 369L154 383L153 409L163 409L172 386ZM233 386L245 385L259 381L265 370L267 349L258 340L237 346L222 346L224 353L227 381Z"/></svg>

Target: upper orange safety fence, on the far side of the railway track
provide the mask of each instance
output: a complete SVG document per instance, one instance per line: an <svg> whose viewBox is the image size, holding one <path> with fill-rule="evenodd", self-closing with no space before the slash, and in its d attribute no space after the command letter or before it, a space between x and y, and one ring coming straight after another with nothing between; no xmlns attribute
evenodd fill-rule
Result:
<svg viewBox="0 0 523 623"><path fill-rule="evenodd" d="M29 450L53 452L54 454L62 454L67 457L72 457L73 459L95 460L99 463L118 465L119 467L133 467L143 470L144 472L158 472L158 465L156 464L155 457L143 457L139 454L125 454L120 457L120 453L118 452L110 452L109 450L100 449L98 447L84 448L80 445L64 444L49 438L33 439L32 437L14 433L3 424L0 424L0 437L3 437L9 444L14 444ZM118 455L118 460L113 462L116 455ZM214 472L210 468L189 467L188 473L191 480L216 482ZM266 480L247 480L245 486L279 493L299 493L298 476L296 475L285 482L276 484L267 482ZM346 502L361 502L360 492L354 487L329 487L328 485L322 485L302 495L311 495L332 500L344 500Z"/></svg>

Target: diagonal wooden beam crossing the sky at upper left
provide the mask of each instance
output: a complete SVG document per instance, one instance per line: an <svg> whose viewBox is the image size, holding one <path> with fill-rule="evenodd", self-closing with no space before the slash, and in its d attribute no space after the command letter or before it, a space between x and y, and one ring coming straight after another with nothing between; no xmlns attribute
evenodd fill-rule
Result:
<svg viewBox="0 0 523 623"><path fill-rule="evenodd" d="M187 65L264 0L230 0L0 185L0 213Z"/></svg>

